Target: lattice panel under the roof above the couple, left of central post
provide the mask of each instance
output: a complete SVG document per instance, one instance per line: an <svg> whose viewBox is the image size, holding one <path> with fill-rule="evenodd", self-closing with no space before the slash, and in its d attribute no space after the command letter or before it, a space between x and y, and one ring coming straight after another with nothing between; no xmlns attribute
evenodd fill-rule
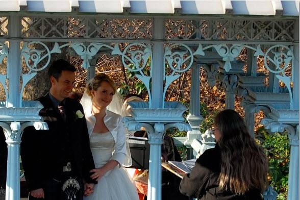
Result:
<svg viewBox="0 0 300 200"><path fill-rule="evenodd" d="M151 39L151 18L22 17L26 38Z"/></svg>

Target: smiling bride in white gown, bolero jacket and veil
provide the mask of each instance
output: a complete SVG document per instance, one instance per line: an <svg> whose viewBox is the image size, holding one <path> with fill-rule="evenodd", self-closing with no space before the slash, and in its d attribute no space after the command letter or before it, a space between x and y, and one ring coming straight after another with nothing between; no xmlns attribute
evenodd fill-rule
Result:
<svg viewBox="0 0 300 200"><path fill-rule="evenodd" d="M113 81L101 73L87 84L81 100L96 166L90 171L91 178L98 181L92 193L85 191L85 195L88 195L84 197L85 200L139 199L133 181L122 167L127 159L122 117L107 110L115 92Z"/></svg>

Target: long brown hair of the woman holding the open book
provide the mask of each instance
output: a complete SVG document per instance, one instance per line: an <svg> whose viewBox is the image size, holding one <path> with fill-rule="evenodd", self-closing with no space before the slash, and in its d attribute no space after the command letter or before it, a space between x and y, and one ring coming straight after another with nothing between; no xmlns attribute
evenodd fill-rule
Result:
<svg viewBox="0 0 300 200"><path fill-rule="evenodd" d="M234 110L223 110L216 115L215 126L221 133L219 187L239 195L251 188L264 191L268 185L268 161L242 117Z"/></svg>

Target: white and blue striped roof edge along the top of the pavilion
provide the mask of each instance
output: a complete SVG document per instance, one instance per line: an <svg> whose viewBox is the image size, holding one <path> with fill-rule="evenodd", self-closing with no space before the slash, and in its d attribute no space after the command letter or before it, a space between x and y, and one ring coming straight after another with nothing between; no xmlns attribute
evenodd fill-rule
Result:
<svg viewBox="0 0 300 200"><path fill-rule="evenodd" d="M229 0L97 0L97 1L14 1L0 0L1 11L193 14L193 15L284 15L298 16L299 1ZM23 9L21 9L23 8Z"/></svg>

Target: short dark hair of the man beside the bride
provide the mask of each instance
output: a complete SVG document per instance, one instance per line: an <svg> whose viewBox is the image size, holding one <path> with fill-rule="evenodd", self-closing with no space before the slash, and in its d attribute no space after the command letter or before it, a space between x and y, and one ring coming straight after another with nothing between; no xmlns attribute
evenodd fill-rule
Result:
<svg viewBox="0 0 300 200"><path fill-rule="evenodd" d="M76 71L76 68L69 63L68 61L64 59L59 59L57 61L54 61L52 65L48 69L48 76L54 77L56 80L60 78L62 71Z"/></svg>

